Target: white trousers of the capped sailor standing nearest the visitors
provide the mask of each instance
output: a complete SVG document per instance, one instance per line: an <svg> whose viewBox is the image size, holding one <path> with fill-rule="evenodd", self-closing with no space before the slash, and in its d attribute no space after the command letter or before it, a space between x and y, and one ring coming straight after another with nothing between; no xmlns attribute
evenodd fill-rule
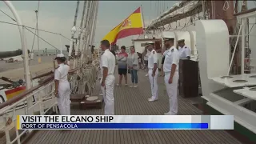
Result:
<svg viewBox="0 0 256 144"><path fill-rule="evenodd" d="M151 85L151 94L153 99L158 99L158 69L155 70L155 75L152 77L153 69L149 69L149 78Z"/></svg>

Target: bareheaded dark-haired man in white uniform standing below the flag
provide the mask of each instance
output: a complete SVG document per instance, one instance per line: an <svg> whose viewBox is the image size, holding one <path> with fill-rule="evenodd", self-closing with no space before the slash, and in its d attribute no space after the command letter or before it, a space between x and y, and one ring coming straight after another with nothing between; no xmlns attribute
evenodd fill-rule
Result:
<svg viewBox="0 0 256 144"><path fill-rule="evenodd" d="M110 52L110 42L103 40L101 42L102 60L101 60L101 89L103 92L103 98L105 102L105 115L114 115L114 69L115 69L115 57Z"/></svg>

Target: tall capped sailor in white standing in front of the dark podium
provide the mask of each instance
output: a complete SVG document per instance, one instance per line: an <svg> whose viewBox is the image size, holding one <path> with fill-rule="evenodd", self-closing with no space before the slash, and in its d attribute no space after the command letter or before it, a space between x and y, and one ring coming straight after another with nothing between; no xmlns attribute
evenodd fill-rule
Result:
<svg viewBox="0 0 256 144"><path fill-rule="evenodd" d="M165 62L163 63L163 71L165 73L166 92L169 97L170 110L166 115L176 115L178 113L178 62L179 53L174 47L174 38L163 38L166 48L170 48L165 53Z"/></svg>

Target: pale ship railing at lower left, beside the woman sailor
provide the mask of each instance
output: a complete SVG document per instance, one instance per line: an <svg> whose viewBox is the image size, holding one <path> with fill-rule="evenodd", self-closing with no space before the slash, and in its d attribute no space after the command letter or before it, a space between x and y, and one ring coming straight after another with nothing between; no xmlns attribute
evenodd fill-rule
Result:
<svg viewBox="0 0 256 144"><path fill-rule="evenodd" d="M57 102L54 96L54 75L51 74L38 86L26 90L22 94L18 94L7 102L0 105L0 115L5 123L2 130L6 135L6 143L21 143L21 138L29 130L17 130L17 115L40 114L44 115L51 109L57 113ZM27 106L27 102L33 99L31 106ZM14 132L16 134L14 134Z"/></svg>

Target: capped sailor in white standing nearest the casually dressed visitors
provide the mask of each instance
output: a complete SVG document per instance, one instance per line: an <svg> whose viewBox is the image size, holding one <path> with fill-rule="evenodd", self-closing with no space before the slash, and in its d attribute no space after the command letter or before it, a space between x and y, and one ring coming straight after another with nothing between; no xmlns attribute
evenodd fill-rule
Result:
<svg viewBox="0 0 256 144"><path fill-rule="evenodd" d="M146 43L147 50L150 51L148 56L148 75L150 78L150 85L151 85L151 98L148 100L150 102L154 102L158 100L158 55L157 52L154 50L154 42L147 42Z"/></svg>

